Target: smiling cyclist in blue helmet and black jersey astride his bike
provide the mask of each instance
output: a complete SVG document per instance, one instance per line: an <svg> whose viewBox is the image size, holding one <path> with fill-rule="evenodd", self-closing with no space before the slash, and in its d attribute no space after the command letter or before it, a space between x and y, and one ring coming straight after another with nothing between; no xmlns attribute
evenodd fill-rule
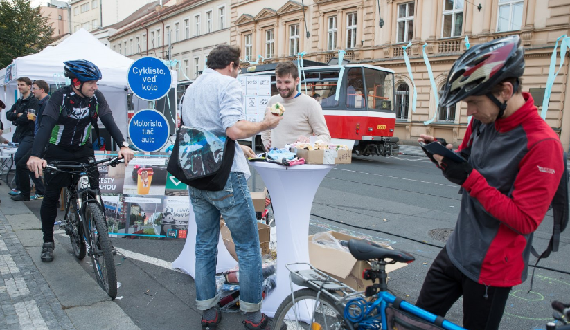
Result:
<svg viewBox="0 0 570 330"><path fill-rule="evenodd" d="M97 118L103 122L120 147L118 157L125 158L127 164L133 158L133 152L115 124L103 93L98 91L97 81L101 79L101 71L95 64L84 59L67 61L64 64L65 76L71 79L71 85L64 86L51 95L42 113L42 122L35 136L28 169L35 172L36 178L39 178L48 162L87 163L89 158L94 156L89 134L92 128L98 132ZM71 184L71 174L46 173L44 181L46 190L40 209L44 233L41 257L42 262L51 262L55 247L53 224L57 215L57 199L61 188ZM98 171L89 174L89 184L91 187L99 187Z"/></svg>

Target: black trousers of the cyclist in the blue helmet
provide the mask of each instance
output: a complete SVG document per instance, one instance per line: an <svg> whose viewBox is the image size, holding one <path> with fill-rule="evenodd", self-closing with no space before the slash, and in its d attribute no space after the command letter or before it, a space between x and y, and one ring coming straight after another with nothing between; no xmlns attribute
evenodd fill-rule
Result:
<svg viewBox="0 0 570 330"><path fill-rule="evenodd" d="M57 145L48 145L44 159L48 163L52 161L87 163L90 157L94 157L93 147L91 143L87 143L76 149L64 149ZM46 187L42 208L39 210L40 217L42 217L44 242L53 241L53 224L57 217L57 200L60 198L62 188L71 185L72 176L72 174L68 173L44 174ZM89 173L89 185L92 188L99 187L99 171L97 169L93 169Z"/></svg>

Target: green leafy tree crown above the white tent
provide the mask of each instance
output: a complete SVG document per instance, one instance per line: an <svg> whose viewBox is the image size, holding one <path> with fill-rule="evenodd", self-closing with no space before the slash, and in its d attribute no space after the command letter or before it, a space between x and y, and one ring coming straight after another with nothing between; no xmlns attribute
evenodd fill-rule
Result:
<svg viewBox="0 0 570 330"><path fill-rule="evenodd" d="M0 0L0 68L12 60L42 51L52 42L49 17L28 0Z"/></svg>

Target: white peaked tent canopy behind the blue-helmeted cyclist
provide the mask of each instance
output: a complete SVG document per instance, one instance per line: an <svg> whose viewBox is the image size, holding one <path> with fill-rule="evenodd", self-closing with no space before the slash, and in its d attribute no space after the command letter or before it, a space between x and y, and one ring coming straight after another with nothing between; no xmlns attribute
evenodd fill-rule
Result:
<svg viewBox="0 0 570 330"><path fill-rule="evenodd" d="M112 51L102 44L91 33L81 28L57 46L48 46L43 51L18 57L12 62L12 80L5 84L6 69L0 70L0 100L6 103L6 110L10 109L17 98L18 77L29 77L31 80L45 80L48 84L65 84L64 61L73 59L87 59L98 66L103 75L98 85L105 99L113 111L117 126L127 136L127 71L133 60ZM172 75L172 86L176 87L176 75ZM133 97L134 110L143 109L147 102ZM2 114L5 129L11 127L11 122ZM13 133L13 129L12 129ZM3 134L10 140L12 133ZM107 143L109 144L109 143Z"/></svg>

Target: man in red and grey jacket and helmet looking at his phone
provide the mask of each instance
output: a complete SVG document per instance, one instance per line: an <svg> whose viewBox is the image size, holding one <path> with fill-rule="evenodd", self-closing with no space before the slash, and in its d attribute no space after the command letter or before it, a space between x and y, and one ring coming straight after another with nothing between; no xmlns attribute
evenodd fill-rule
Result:
<svg viewBox="0 0 570 330"><path fill-rule="evenodd" d="M449 71L439 105L463 101L473 116L457 151L467 162L424 150L463 195L455 230L416 305L444 316L463 295L463 327L470 330L499 328L510 288L526 279L533 232L564 171L558 135L521 92L523 72L517 35L466 51Z"/></svg>

